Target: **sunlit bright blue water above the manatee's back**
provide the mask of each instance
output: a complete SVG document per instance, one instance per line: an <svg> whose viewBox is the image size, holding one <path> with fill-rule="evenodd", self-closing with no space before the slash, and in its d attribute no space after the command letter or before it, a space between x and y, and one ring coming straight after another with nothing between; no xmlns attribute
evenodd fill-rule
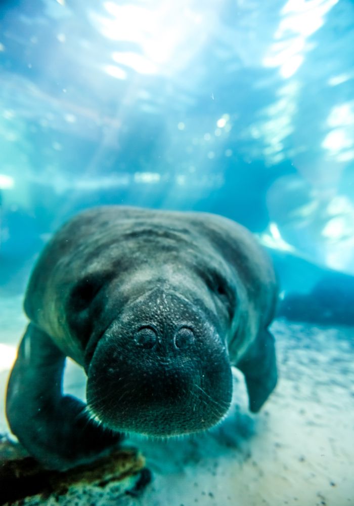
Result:
<svg viewBox="0 0 354 506"><path fill-rule="evenodd" d="M124 203L353 274L353 22L349 0L3 2L3 262Z"/></svg>

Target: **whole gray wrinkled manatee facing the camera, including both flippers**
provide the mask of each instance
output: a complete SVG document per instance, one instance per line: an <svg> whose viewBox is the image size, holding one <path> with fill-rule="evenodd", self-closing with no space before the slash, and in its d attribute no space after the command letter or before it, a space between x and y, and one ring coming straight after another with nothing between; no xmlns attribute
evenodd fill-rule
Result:
<svg viewBox="0 0 354 506"><path fill-rule="evenodd" d="M203 431L227 412L231 365L251 411L277 382L273 268L242 226L206 213L105 206L76 216L30 278L30 323L7 392L13 433L68 469L135 432ZM65 357L87 406L62 394Z"/></svg>

